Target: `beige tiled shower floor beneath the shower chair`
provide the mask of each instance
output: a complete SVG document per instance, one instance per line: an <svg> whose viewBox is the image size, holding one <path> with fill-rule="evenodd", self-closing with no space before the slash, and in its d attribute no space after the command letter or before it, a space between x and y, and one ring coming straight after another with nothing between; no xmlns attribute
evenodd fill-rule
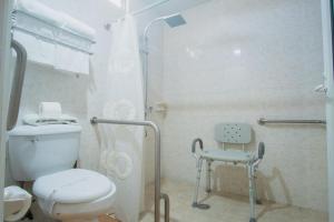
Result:
<svg viewBox="0 0 334 222"><path fill-rule="evenodd" d="M153 189L148 189L151 191ZM186 183L164 182L163 192L170 198L170 222L248 222L248 199L245 196L210 195L205 202L209 210L193 209L194 186ZM202 195L204 196L204 194ZM161 202L163 203L163 202ZM147 203L147 209L153 204ZM150 208L151 205L151 208ZM161 212L164 212L161 206ZM327 214L275 203L256 206L258 222L327 222ZM141 222L153 222L153 211L141 215ZM164 220L161 220L164 221Z"/></svg>

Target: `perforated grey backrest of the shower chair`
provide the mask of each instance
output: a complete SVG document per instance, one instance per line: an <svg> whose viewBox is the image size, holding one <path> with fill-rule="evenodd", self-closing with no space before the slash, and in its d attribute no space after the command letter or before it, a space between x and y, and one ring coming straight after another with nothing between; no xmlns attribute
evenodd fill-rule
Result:
<svg viewBox="0 0 334 222"><path fill-rule="evenodd" d="M215 125L215 140L223 143L245 144L252 141L252 128L247 123L218 123Z"/></svg>

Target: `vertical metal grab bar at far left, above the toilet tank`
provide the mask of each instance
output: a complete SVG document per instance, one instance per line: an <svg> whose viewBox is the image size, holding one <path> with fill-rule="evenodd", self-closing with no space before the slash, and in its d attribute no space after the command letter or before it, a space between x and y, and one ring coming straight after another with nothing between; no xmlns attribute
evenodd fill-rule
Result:
<svg viewBox="0 0 334 222"><path fill-rule="evenodd" d="M22 44L16 40L11 40L11 48L17 52L17 61L14 75L12 79L8 115L7 115L7 130L12 130L18 121L22 87L24 81L24 72L27 65L27 51Z"/></svg>

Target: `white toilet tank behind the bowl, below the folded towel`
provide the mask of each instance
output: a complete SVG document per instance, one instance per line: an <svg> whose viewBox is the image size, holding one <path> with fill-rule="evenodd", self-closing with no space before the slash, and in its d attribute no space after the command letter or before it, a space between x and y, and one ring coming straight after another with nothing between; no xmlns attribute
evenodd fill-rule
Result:
<svg viewBox="0 0 334 222"><path fill-rule="evenodd" d="M81 127L75 124L20 125L9 132L11 175L16 181L73 168L78 159Z"/></svg>

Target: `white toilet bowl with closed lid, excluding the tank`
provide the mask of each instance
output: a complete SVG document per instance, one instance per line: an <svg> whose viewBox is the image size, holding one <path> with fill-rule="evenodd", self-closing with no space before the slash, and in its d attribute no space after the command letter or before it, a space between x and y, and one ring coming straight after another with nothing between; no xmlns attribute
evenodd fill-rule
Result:
<svg viewBox="0 0 334 222"><path fill-rule="evenodd" d="M45 175L33 183L45 214L60 221L95 221L111 210L116 186L97 172L71 169Z"/></svg>

